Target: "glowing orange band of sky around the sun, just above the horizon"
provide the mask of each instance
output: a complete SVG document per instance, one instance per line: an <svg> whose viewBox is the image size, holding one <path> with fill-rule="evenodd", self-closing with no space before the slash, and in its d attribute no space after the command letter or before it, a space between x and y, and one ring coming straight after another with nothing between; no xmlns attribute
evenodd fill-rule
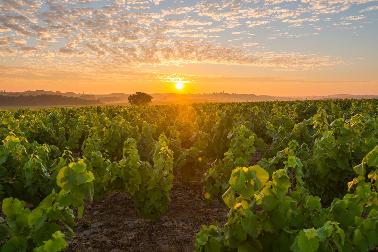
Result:
<svg viewBox="0 0 378 252"><path fill-rule="evenodd" d="M208 64L201 64L203 68ZM212 67L212 66L210 66ZM227 71L235 66L222 66ZM260 70L266 70L259 68ZM11 69L14 71L14 69ZM203 71L203 70L199 70ZM184 72L184 71L183 71ZM352 78L345 74L339 77L318 76L305 77L299 74L278 74L276 76L245 77L232 75L187 75L156 74L144 71L133 75L112 76L112 74L77 74L72 72L55 72L49 74L22 73L5 74L2 77L2 88L6 91L53 90L73 91L75 93L254 93L257 95L328 95L328 94L378 94L378 83L372 78ZM373 74L372 74L373 75ZM167 78L170 77L170 78ZM163 80L162 80L163 79ZM175 83L183 80L184 88L177 90ZM176 80L176 81L169 81ZM9 83L8 85L5 83Z"/></svg>

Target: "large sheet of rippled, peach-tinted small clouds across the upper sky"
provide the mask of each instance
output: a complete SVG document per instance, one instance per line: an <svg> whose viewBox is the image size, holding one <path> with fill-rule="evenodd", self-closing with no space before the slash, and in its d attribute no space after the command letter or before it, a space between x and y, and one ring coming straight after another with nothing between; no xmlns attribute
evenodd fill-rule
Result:
<svg viewBox="0 0 378 252"><path fill-rule="evenodd" d="M277 53L274 50L285 50L284 44L271 45L280 36L296 43L296 37L318 34L313 32L319 29L346 28L351 24L347 20L368 17L355 15L352 10L370 0L200 0L184 5L162 0L94 2L4 0L0 3L0 32L7 36L0 39L0 46L20 47L18 54L2 49L2 55L8 57L5 60L27 66L22 57L29 57L46 71L64 65L73 72L120 74L188 63L279 69L340 65L345 62L338 60L339 55L321 56L321 48L313 54ZM360 12L375 9L371 6ZM339 19L328 28L314 25L319 20ZM225 41L232 45L226 46ZM279 69L274 71L287 70Z"/></svg>

